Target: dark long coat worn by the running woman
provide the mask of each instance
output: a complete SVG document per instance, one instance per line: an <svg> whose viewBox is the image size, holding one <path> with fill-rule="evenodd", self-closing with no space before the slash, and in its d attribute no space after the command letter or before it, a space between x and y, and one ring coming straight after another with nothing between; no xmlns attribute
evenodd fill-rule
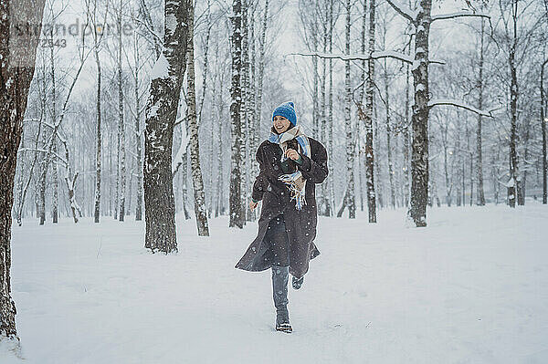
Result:
<svg viewBox="0 0 548 364"><path fill-rule="evenodd" d="M311 259L320 255L313 243L316 237L318 208L316 205L316 183L321 183L328 174L327 152L321 142L309 137L311 158L300 153L302 163L294 163L306 179L306 204L302 210L295 208L295 200L290 201L290 192L286 184L278 177L281 169L281 148L269 140L263 141L257 151L260 172L253 184L252 197L262 200L262 210L258 220L258 234L248 250L237 263L239 269L257 272L269 269L273 263L273 254L269 244L264 242L269 222L279 213L284 214L286 231L290 243L290 274L304 276L309 269Z"/></svg>

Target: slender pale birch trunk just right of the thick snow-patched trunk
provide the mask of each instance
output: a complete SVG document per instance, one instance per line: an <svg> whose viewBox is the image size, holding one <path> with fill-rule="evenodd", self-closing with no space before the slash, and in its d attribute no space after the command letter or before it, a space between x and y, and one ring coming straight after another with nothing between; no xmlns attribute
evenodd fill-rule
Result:
<svg viewBox="0 0 548 364"><path fill-rule="evenodd" d="M188 41L186 44L188 52L186 102L188 107L188 131L190 135L190 164L192 170L192 182L194 186L194 205L198 236L209 236L209 228L207 227L207 214L205 210L204 181L202 179L202 170L200 169L200 147L198 142L198 123L196 116L194 67L194 6L192 5L192 0L189 1L189 6Z"/></svg>

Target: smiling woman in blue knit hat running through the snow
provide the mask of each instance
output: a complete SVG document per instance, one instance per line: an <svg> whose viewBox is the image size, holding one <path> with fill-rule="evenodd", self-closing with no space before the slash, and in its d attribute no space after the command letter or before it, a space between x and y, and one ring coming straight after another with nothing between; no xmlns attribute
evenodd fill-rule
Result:
<svg viewBox="0 0 548 364"><path fill-rule="evenodd" d="M260 172L253 184L251 211L262 200L258 234L236 267L258 272L272 268L276 330L291 332L288 311L288 278L299 289L309 261L320 252L316 237L315 183L328 174L327 152L318 140L307 137L292 102L272 113L268 140L258 147Z"/></svg>

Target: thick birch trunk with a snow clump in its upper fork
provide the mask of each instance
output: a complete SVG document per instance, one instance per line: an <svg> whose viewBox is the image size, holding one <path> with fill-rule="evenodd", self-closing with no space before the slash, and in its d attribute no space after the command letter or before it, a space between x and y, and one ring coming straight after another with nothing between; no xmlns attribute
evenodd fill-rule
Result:
<svg viewBox="0 0 548 364"><path fill-rule="evenodd" d="M174 122L186 68L189 1L165 0L163 52L151 72L144 133L145 247L177 251L172 174Z"/></svg>

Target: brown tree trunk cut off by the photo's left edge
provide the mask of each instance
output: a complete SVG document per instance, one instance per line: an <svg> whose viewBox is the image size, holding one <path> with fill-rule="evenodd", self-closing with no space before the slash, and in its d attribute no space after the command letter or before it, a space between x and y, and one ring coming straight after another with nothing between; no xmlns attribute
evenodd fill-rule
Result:
<svg viewBox="0 0 548 364"><path fill-rule="evenodd" d="M14 24L38 25L41 31L44 0L0 2L0 339L16 339L16 304L11 297L11 211L17 150L23 132L26 98L35 70L37 36L16 37Z"/></svg>

